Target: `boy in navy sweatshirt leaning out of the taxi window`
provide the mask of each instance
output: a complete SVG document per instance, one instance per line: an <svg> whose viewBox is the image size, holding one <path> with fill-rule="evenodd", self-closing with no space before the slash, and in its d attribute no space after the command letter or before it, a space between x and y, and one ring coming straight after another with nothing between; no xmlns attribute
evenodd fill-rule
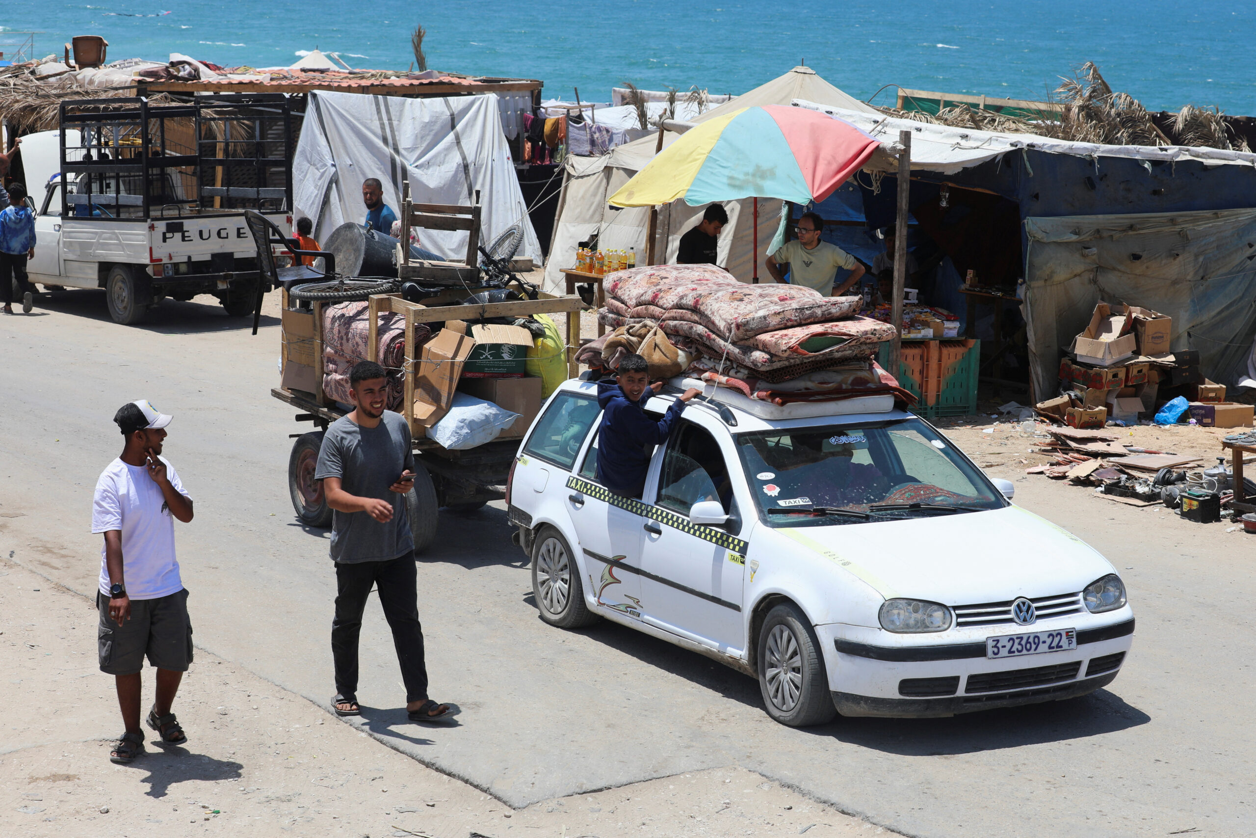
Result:
<svg viewBox="0 0 1256 838"><path fill-rule="evenodd" d="M602 423L598 426L598 482L624 498L641 498L646 489L646 472L654 446L667 438L672 422L685 410L685 403L698 395L686 389L663 418L646 416L651 396L663 388L663 382L649 383L649 364L639 354L624 356L615 371L615 382L598 382L598 405Z"/></svg>

